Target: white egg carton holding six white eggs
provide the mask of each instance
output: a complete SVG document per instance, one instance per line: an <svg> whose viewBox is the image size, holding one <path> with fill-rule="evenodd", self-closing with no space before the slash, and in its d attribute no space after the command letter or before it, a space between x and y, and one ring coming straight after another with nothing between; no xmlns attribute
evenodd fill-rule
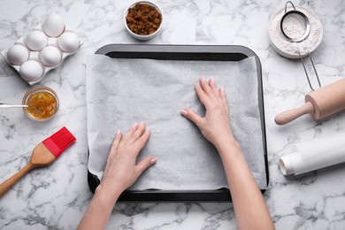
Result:
<svg viewBox="0 0 345 230"><path fill-rule="evenodd" d="M52 13L28 35L1 52L9 65L18 71L29 85L42 80L50 70L73 55L83 42L65 25L57 13Z"/></svg>

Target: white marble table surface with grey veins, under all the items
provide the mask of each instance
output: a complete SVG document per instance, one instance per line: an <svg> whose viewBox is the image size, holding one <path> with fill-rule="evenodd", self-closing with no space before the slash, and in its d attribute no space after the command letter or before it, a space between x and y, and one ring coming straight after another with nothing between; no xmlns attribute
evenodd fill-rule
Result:
<svg viewBox="0 0 345 230"><path fill-rule="evenodd" d="M50 12L61 14L84 41L81 50L39 85L54 88L61 107L56 118L37 123L20 110L0 111L0 182L26 165L35 145L61 126L78 141L57 162L25 176L0 198L1 229L73 229L88 207L85 105L86 58L108 43L134 41L123 25L123 13L134 1L0 1L0 50L27 35ZM267 27L285 1L157 0L165 28L149 44L245 45L263 65L265 122L270 184L265 200L277 229L345 229L345 167L336 165L297 177L280 173L279 157L293 143L345 132L345 113L322 124L305 116L276 126L274 116L303 103L308 87L303 66L278 55ZM324 85L345 76L345 2L294 1L315 12L324 39L312 57ZM0 58L0 101L19 103L30 87ZM119 204L108 229L236 229L231 203Z"/></svg>

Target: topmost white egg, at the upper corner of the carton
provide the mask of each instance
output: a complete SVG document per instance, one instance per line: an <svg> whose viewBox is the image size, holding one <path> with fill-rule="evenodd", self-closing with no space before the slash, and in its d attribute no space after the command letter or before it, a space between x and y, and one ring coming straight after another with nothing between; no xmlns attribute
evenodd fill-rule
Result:
<svg viewBox="0 0 345 230"><path fill-rule="evenodd" d="M57 13L50 14L50 16L48 16L44 21L43 30L44 33L50 37L58 37L65 30L64 19L62 19Z"/></svg>

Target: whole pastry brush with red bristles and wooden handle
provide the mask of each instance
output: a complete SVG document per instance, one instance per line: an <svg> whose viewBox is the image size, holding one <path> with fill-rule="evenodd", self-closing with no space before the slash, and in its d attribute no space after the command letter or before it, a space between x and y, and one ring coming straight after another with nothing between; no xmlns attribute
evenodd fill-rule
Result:
<svg viewBox="0 0 345 230"><path fill-rule="evenodd" d="M30 170L35 167L50 165L65 149L72 145L75 140L73 134L71 134L66 127L63 127L58 130L57 133L52 134L43 142L39 143L35 147L29 163L18 173L15 173L11 178L0 184L0 197L10 190L10 188Z"/></svg>

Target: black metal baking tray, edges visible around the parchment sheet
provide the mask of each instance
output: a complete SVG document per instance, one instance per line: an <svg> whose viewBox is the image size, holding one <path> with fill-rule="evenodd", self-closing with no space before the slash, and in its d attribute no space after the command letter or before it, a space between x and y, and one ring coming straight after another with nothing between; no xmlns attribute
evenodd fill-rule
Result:
<svg viewBox="0 0 345 230"><path fill-rule="evenodd" d="M249 48L238 45L132 45L109 44L96 51L96 54L110 58L149 58L159 60L194 60L194 61L241 61L255 57L257 63L258 105L261 116L262 139L265 154L265 171L268 186L269 173L267 163L265 111L261 63L257 54ZM94 193L100 181L96 175L88 172L88 187ZM265 193L265 189L261 190ZM231 202L227 188L215 190L126 190L119 202Z"/></svg>

